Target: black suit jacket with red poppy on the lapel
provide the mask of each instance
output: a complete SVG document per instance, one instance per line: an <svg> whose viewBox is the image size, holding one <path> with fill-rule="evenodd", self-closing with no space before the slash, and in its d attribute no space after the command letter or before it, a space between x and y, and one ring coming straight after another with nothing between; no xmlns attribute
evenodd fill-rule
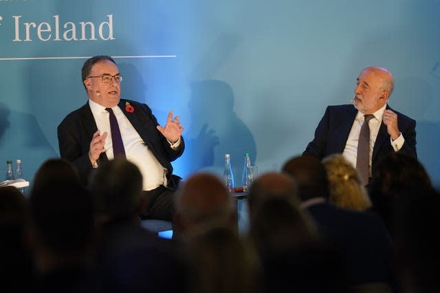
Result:
<svg viewBox="0 0 440 293"><path fill-rule="evenodd" d="M135 111L133 113L125 110L126 101L130 102L130 105L134 107ZM158 125L157 120L147 105L133 100L120 100L119 107L137 133L139 133L142 140L144 140L148 149L153 152L160 164L166 168L168 171L166 175L168 186L173 186L179 177L173 175L172 178L173 166L171 166L171 162L179 158L184 152L184 138L180 138L179 148L173 150L164 135L156 129ZM83 107L69 113L61 124L58 125L58 146L61 158L72 162L76 166L83 184L87 184L89 174L93 170L89 160L89 148L91 138L97 130L98 127L96 126L88 101ZM108 160L107 155L101 153L98 164L105 160Z"/></svg>

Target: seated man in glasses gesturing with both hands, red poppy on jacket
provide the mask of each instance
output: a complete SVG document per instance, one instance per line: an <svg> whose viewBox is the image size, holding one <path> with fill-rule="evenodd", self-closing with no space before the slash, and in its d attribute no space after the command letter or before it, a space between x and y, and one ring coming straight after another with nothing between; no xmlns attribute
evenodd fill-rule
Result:
<svg viewBox="0 0 440 293"><path fill-rule="evenodd" d="M117 156L133 162L143 177L141 217L169 221L181 179L170 162L184 152L179 117L170 111L162 127L147 105L120 99L123 78L110 56L89 58L81 73L89 100L58 125L61 158L76 166L83 184L100 162Z"/></svg>

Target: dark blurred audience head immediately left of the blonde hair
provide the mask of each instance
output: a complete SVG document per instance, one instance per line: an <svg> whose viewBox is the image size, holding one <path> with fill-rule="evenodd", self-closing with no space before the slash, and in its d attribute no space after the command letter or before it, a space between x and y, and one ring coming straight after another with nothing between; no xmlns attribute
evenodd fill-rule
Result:
<svg viewBox="0 0 440 293"><path fill-rule="evenodd" d="M282 171L294 177L302 202L329 196L327 174L318 158L312 155L294 157L285 162Z"/></svg>

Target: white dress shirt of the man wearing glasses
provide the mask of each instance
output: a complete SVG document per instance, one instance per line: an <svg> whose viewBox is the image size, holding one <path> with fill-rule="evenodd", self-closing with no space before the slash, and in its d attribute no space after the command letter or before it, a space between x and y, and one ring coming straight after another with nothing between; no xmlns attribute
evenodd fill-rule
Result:
<svg viewBox="0 0 440 293"><path fill-rule="evenodd" d="M100 134L102 135L105 131L108 133L104 149L106 149L105 154L107 158L113 160L109 112L105 110L105 107L92 100L89 100L89 105ZM164 166L159 163L153 152L148 149L148 146L146 146L144 140L142 140L129 119L122 113L120 107L116 105L111 109L118 120L126 159L135 164L142 173L144 191L150 191L160 185L166 186L166 169ZM178 146L178 144L173 146Z"/></svg>

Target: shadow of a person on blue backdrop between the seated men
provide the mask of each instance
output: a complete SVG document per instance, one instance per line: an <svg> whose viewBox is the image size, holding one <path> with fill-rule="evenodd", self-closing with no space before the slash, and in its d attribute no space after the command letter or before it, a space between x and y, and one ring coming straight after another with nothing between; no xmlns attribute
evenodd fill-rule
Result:
<svg viewBox="0 0 440 293"><path fill-rule="evenodd" d="M221 175L224 155L230 153L236 186L241 185L244 154L256 160L254 137L234 112L234 93L221 80L202 80L190 85L190 128L186 131L186 173L211 171Z"/></svg>

